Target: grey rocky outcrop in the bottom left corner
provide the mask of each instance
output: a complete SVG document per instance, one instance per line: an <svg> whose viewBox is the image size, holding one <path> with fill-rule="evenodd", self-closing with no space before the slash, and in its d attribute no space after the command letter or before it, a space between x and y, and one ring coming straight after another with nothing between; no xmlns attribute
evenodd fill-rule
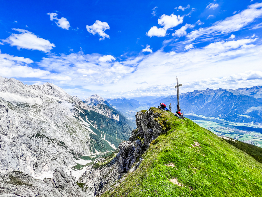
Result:
<svg viewBox="0 0 262 197"><path fill-rule="evenodd" d="M39 180L20 171L0 173L0 197L88 197L90 191L82 190L72 176L55 170L53 178Z"/></svg>

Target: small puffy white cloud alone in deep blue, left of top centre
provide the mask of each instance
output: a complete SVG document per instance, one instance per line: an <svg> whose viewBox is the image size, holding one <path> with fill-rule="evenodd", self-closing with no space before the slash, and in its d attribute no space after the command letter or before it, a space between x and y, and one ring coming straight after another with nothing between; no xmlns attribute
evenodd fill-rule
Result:
<svg viewBox="0 0 262 197"><path fill-rule="evenodd" d="M86 25L86 29L89 33L93 35L98 34L100 37L102 37L99 40L109 38L109 35L105 33L105 30L110 29L107 22L101 22L100 20L96 20L93 25Z"/></svg>

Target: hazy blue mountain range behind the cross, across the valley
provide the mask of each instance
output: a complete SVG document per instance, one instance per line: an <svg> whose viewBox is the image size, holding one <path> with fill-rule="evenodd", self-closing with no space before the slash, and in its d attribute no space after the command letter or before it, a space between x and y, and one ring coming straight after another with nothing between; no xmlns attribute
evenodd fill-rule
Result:
<svg viewBox="0 0 262 197"><path fill-rule="evenodd" d="M159 99L160 102L173 104L176 111L177 95ZM262 122L262 86L239 88L237 90L194 90L180 95L180 108L186 114L198 114L224 119L231 122Z"/></svg>

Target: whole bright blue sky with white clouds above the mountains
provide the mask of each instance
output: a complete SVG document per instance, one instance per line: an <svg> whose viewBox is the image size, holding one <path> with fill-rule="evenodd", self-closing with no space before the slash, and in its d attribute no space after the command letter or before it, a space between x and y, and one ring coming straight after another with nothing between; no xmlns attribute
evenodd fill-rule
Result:
<svg viewBox="0 0 262 197"><path fill-rule="evenodd" d="M261 85L261 2L2 1L0 75L80 98Z"/></svg>

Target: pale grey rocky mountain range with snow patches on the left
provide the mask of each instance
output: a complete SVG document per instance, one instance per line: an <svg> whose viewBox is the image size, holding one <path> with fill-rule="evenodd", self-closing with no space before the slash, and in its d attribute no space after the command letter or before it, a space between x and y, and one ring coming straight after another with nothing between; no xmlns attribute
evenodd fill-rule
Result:
<svg viewBox="0 0 262 197"><path fill-rule="evenodd" d="M86 164L85 156L114 151L134 126L98 95L82 102L52 83L28 86L0 76L1 173L40 180L56 169L69 173Z"/></svg>

